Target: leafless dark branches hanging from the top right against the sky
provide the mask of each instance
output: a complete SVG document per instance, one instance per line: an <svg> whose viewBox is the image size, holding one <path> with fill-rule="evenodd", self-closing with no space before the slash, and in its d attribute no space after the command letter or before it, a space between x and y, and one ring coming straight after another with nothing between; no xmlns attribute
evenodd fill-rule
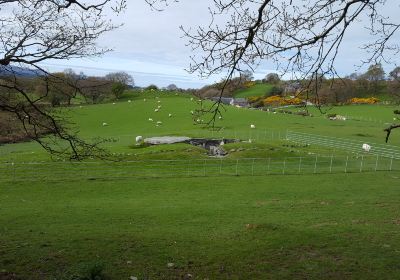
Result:
<svg viewBox="0 0 400 280"><path fill-rule="evenodd" d="M201 76L227 73L226 83L262 60L270 60L282 73L309 79L318 94L319 76L335 77L335 60L349 28L364 22L371 34L364 63L386 61L399 52L393 40L400 28L397 18L382 13L386 0L214 0L211 22L196 30L182 28L194 56L190 71ZM399 6L393 7L399 9ZM399 9L400 11L400 9ZM228 21L221 21L226 19ZM220 92L223 96L224 88ZM209 125L221 114L221 102ZM390 128L389 128L390 129Z"/></svg>

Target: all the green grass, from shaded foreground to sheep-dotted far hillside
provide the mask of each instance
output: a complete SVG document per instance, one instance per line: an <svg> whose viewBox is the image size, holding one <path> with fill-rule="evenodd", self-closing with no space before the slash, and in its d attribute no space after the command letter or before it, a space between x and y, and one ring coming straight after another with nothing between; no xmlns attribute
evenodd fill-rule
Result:
<svg viewBox="0 0 400 280"><path fill-rule="evenodd" d="M279 138L289 129L384 143L382 130L394 109L334 107L329 112L359 117L335 122L313 108L313 117L302 117L227 107L218 122L222 131L212 132L194 124L190 111L198 106L190 96L130 92L116 104L76 106L67 114L82 137L114 138L107 148L124 159L208 159L203 149L186 144L135 147L137 135L253 139L227 146L235 150L227 160L236 160L344 156L346 151L290 146ZM399 131L391 144L400 146ZM44 161L58 178L0 180L1 280L400 275L398 171L251 177L243 167L239 176L100 179L79 177L77 167L75 176L63 177L55 172L61 163L35 143L0 146L0 161ZM17 176L29 177L24 170ZM90 271L104 275L90 278Z"/></svg>

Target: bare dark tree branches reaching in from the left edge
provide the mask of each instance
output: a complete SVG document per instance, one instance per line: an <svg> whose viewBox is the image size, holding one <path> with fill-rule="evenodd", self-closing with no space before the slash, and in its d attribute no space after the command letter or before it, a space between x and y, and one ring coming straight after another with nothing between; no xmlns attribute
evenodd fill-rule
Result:
<svg viewBox="0 0 400 280"><path fill-rule="evenodd" d="M125 0L0 0L0 110L17 116L26 134L47 151L73 159L105 154L103 140L87 142L61 114L43 105L49 83L67 82L40 64L98 56L108 49L97 38L116 28L106 11L120 12ZM44 81L43 94L33 96L18 75L30 68ZM75 86L76 84L71 86ZM43 133L48 134L42 137ZM61 140L61 141L60 141Z"/></svg>

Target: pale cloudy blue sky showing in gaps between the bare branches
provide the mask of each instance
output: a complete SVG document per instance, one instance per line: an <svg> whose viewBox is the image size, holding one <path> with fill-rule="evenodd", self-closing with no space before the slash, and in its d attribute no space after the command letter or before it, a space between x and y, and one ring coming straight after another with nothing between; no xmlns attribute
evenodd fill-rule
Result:
<svg viewBox="0 0 400 280"><path fill-rule="evenodd" d="M223 74L201 79L196 74L189 74L192 50L186 46L182 38L180 26L195 29L206 26L210 21L208 7L212 0L181 0L171 3L163 11L152 10L144 0L128 1L127 9L116 15L109 13L115 24L123 24L116 30L106 33L98 41L102 47L113 51L100 58L73 59L54 61L42 64L50 71L62 71L72 68L76 72L83 71L87 75L103 76L109 72L126 71L131 74L137 86L156 84L164 87L176 84L182 88L199 88L206 84L219 81ZM400 4L398 0L387 0L382 6L382 14L398 18ZM221 21L227 20L222 18ZM351 28L344 39L336 68L339 74L354 72L357 65L365 57L365 52L359 46L368 41L368 31L358 22ZM394 38L400 42L399 34ZM392 65L384 64L386 72L400 64L398 56L393 57ZM359 71L365 71L361 68ZM274 65L263 61L256 68L255 79L261 79L266 74L276 72Z"/></svg>

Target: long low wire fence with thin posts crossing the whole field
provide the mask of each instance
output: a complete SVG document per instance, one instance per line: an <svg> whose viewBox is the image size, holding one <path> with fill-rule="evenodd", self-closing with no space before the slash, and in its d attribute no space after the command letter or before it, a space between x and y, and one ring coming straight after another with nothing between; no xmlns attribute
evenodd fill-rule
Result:
<svg viewBox="0 0 400 280"><path fill-rule="evenodd" d="M133 177L265 176L400 170L400 160L377 156L212 158L124 162L0 164L0 182L72 181Z"/></svg>

